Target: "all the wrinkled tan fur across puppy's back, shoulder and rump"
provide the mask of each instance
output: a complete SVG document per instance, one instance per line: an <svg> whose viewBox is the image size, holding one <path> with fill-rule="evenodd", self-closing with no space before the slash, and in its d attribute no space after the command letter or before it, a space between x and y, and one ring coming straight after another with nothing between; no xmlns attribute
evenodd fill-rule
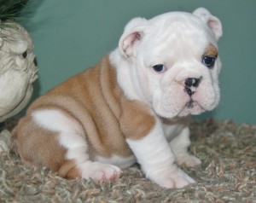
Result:
<svg viewBox="0 0 256 203"><path fill-rule="evenodd" d="M117 83L115 68L108 55L96 67L79 73L41 96L29 107L13 132L13 142L22 159L34 165L59 170L61 176L77 177L74 163L65 160L67 149L62 148L56 134L46 131L32 120L38 109L58 108L79 122L84 141L94 156L113 154L129 157L132 152L125 138L140 139L154 127L154 116L142 102L129 101ZM70 169L70 171L68 170ZM69 174L69 175L68 175Z"/></svg>

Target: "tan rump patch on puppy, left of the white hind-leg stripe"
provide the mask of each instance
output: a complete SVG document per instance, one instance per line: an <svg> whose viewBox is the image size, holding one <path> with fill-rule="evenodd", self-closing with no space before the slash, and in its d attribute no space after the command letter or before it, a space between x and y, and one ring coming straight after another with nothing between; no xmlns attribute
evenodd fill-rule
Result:
<svg viewBox="0 0 256 203"><path fill-rule="evenodd" d="M26 163L47 166L51 171L57 171L67 151L61 147L57 136L57 133L42 129L30 116L26 116L20 119L11 139L15 152Z"/></svg>

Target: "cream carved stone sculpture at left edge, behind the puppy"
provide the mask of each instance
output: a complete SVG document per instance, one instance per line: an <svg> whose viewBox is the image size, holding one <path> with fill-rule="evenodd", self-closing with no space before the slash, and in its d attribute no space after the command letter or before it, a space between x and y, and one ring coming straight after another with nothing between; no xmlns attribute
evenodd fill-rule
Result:
<svg viewBox="0 0 256 203"><path fill-rule="evenodd" d="M0 122L19 113L32 96L32 83L38 78L32 38L15 22L0 27ZM0 135L0 152L9 136Z"/></svg>

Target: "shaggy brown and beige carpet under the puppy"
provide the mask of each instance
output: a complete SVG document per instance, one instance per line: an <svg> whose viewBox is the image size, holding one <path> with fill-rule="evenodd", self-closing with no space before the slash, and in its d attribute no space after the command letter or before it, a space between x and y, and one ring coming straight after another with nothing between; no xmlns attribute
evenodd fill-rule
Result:
<svg viewBox="0 0 256 203"><path fill-rule="evenodd" d="M68 181L3 153L0 202L256 202L256 125L207 119L193 121L190 129L190 152L202 164L181 166L197 182L186 188L160 188L138 165L123 170L113 183Z"/></svg>

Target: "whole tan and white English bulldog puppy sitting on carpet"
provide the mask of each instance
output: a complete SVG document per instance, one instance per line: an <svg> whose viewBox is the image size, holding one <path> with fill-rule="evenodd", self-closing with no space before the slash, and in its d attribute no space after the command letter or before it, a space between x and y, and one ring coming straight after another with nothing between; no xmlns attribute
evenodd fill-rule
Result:
<svg viewBox="0 0 256 203"><path fill-rule="evenodd" d="M195 181L189 115L217 107L220 20L207 9L132 19L119 47L49 90L12 132L15 151L61 177L113 181L138 162L165 188Z"/></svg>

